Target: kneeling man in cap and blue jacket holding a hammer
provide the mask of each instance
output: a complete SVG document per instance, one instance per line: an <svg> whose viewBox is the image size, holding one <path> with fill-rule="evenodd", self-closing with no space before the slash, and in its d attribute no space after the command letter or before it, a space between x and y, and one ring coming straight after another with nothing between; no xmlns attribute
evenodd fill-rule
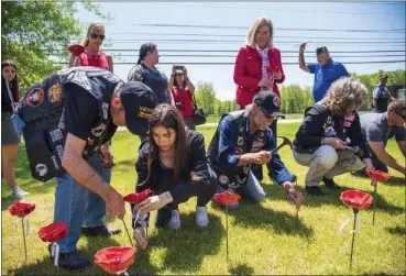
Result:
<svg viewBox="0 0 406 276"><path fill-rule="evenodd" d="M245 110L223 117L212 137L208 158L218 175L218 192L228 189L260 202L265 192L262 165L267 166L271 179L282 185L287 197L297 207L304 202L301 192L295 190L296 176L292 175L275 150L275 137L270 125L285 114L279 111L279 98L270 91L259 92ZM231 187L230 187L231 186ZM230 206L237 209L238 202Z"/></svg>

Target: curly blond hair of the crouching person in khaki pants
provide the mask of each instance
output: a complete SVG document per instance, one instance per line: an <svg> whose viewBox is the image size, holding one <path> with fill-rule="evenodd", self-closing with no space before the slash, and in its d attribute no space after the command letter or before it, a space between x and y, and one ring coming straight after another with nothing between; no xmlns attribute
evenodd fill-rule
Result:
<svg viewBox="0 0 406 276"><path fill-rule="evenodd" d="M333 114L344 115L349 108L360 108L365 97L366 87L356 78L345 77L332 82L322 104Z"/></svg>

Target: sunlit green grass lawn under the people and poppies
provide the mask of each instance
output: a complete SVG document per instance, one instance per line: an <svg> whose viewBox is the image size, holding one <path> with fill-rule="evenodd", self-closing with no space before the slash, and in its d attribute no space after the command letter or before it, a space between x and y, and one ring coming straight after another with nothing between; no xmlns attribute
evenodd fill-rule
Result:
<svg viewBox="0 0 406 276"><path fill-rule="evenodd" d="M297 129L297 123L279 124L278 133L293 137ZM215 128L201 129L206 145L213 131ZM134 190L138 146L139 139L129 132L119 132L113 139L117 166L112 186L122 195ZM388 151L396 158L403 158L394 141L389 141ZM307 168L294 161L287 147L281 155L290 172L298 176L298 189L304 191ZM180 230L151 227L149 249L138 251L128 272L130 275L405 275L405 179L398 173L391 173L395 176L393 179L378 184L375 225L372 225L372 208L360 211L362 225L355 238L352 271L349 269L351 223L339 233L352 210L340 201L340 191L321 186L325 197L305 195L307 201L299 212L297 229L295 208L285 200L283 189L266 177L263 183L265 201L254 205L243 200L239 210L229 213L229 264L226 262L224 210L210 202L210 227L197 229L194 221L196 199L193 198L180 205ZM6 183L2 184L2 275L56 275L46 244L37 236L39 229L53 221L55 180L42 184L31 178L23 147L19 152L17 175L21 187L31 192L26 201L36 203L36 209L29 216L29 263L24 264L22 233L21 230L15 232L17 218L7 209L12 203L11 192ZM373 190L367 178L348 174L336 180L342 189ZM124 219L130 225L129 206L127 210ZM155 212L152 217L153 221ZM108 220L108 225L123 230L120 220ZM127 235L81 238L78 243L79 251L90 260L98 250L113 245L129 245ZM76 275L89 274L106 275L96 265Z"/></svg>

